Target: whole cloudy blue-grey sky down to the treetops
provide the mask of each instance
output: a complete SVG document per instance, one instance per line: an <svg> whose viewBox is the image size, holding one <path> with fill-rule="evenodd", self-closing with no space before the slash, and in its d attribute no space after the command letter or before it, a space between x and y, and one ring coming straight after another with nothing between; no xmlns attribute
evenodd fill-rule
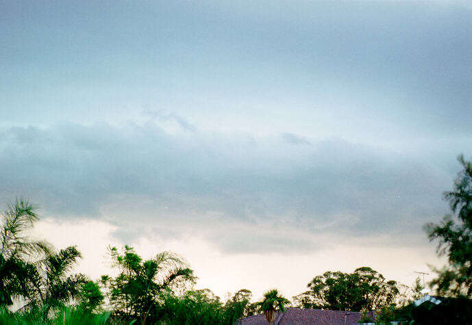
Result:
<svg viewBox="0 0 472 325"><path fill-rule="evenodd" d="M129 244L221 297L412 285L471 90L469 1L0 1L0 203L92 278Z"/></svg>

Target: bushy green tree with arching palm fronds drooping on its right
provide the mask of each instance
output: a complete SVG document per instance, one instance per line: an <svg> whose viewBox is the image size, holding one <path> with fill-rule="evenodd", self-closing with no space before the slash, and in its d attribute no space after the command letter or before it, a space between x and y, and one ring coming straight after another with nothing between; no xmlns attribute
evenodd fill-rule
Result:
<svg viewBox="0 0 472 325"><path fill-rule="evenodd" d="M108 291L114 315L118 317L139 319L142 324L147 320L156 322L152 317L156 317L161 294L195 281L193 271L171 252L160 252L147 261L142 261L129 246L123 252L109 247L108 252L119 274L115 278L102 276L101 284Z"/></svg>

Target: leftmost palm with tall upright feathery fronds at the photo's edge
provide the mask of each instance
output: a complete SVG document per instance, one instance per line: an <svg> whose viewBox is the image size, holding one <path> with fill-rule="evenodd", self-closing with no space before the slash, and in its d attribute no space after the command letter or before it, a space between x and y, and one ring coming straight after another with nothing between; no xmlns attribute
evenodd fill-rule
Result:
<svg viewBox="0 0 472 325"><path fill-rule="evenodd" d="M7 205L0 229L0 306L11 305L13 298L32 295L33 279L38 277L34 259L49 252L47 242L34 242L25 237L38 216L24 199Z"/></svg>

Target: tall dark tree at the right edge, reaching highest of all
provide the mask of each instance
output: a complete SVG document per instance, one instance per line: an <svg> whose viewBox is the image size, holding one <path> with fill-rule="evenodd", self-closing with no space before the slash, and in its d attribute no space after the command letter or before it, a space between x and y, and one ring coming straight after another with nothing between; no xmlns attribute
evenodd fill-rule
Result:
<svg viewBox="0 0 472 325"><path fill-rule="evenodd" d="M438 255L447 255L448 265L431 285L440 295L472 296L472 164L459 155L462 170L454 181L454 190L445 192L452 214L441 222L425 225L430 241L438 239Z"/></svg>

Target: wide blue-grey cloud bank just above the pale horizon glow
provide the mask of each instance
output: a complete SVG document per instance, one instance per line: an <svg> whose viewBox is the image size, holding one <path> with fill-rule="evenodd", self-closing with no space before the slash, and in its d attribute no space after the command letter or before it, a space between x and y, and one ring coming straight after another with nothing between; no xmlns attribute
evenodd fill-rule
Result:
<svg viewBox="0 0 472 325"><path fill-rule="evenodd" d="M451 184L448 171L427 161L343 140L189 138L153 124L14 127L0 134L0 148L2 195L28 196L46 215L99 217L112 205L126 211L116 224L162 219L175 222L169 232L195 227L216 241L216 220L312 234L419 232L444 213L440 194ZM134 210L120 199L127 196L152 203ZM221 245L229 249L230 239Z"/></svg>

